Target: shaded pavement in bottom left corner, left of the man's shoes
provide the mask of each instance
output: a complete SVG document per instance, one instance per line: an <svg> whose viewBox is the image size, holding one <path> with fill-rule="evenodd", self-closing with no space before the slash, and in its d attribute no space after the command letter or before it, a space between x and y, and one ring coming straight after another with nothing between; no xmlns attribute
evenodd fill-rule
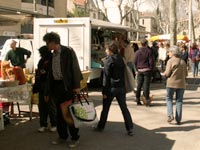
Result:
<svg viewBox="0 0 200 150"><path fill-rule="evenodd" d="M39 119L11 118L11 123L0 131L2 150L49 150L56 133L38 133Z"/></svg>

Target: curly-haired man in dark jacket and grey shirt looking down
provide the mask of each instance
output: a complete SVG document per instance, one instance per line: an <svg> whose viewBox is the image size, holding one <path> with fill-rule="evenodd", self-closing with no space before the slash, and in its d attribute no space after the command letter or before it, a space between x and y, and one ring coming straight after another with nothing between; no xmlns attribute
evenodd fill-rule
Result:
<svg viewBox="0 0 200 150"><path fill-rule="evenodd" d="M71 47L60 44L60 36L55 32L46 33L43 37L49 51L53 50L48 76L49 93L56 104L57 132L59 138L52 144L66 142L68 131L71 135L70 148L79 143L79 129L65 122L61 104L71 103L75 94L80 92L80 81L83 79L77 56ZM48 92L46 92L48 93ZM48 94L47 94L48 96ZM67 109L67 108L66 108Z"/></svg>

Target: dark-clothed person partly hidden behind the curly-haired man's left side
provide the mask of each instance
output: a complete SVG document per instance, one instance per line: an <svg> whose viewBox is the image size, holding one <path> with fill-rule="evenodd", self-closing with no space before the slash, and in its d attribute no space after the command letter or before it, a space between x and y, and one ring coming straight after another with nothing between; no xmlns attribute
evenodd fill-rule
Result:
<svg viewBox="0 0 200 150"><path fill-rule="evenodd" d="M51 52L47 49L46 46L42 46L39 48L39 53L41 59L38 62L38 67L35 73L35 83L33 85L33 93L38 93L39 95L39 115L40 115L40 128L38 132L44 132L47 127L47 119L48 116L50 118L51 127L49 131L55 132L56 131L56 106L49 96L48 99L45 99L45 88L47 82L47 75L49 73L49 59L51 57Z"/></svg>

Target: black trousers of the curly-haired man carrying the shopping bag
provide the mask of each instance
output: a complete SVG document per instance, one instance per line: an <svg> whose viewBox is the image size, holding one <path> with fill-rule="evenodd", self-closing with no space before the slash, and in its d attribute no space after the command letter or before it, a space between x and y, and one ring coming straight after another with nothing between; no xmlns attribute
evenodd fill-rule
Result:
<svg viewBox="0 0 200 150"><path fill-rule="evenodd" d="M63 116L60 104L71 100L74 96L73 92L67 92L64 87L64 83L62 80L54 81L53 86L53 99L56 104L57 109L57 132L61 139L67 139L69 134L71 135L71 140L78 140L79 139L79 129L75 127L69 127L67 123L65 122ZM66 108L67 109L67 108Z"/></svg>

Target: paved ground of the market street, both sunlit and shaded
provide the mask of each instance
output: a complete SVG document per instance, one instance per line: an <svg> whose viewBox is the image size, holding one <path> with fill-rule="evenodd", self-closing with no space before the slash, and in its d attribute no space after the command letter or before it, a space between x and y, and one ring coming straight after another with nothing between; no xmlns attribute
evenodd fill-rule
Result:
<svg viewBox="0 0 200 150"><path fill-rule="evenodd" d="M94 100L98 116L102 109L101 91L92 89L89 96ZM183 104L182 125L167 123L165 85L152 84L153 106L137 106L133 93L127 95L135 135L129 137L123 123L121 110L113 101L105 131L94 132L91 127L80 129L80 145L77 150L199 150L200 147L200 89L197 84L188 84ZM24 106L22 109L28 109ZM15 109L17 110L17 109ZM28 116L14 117L11 125L0 131L2 150L66 150L67 145L54 146L51 141L56 133L38 133L38 109L34 105L33 120Z"/></svg>

